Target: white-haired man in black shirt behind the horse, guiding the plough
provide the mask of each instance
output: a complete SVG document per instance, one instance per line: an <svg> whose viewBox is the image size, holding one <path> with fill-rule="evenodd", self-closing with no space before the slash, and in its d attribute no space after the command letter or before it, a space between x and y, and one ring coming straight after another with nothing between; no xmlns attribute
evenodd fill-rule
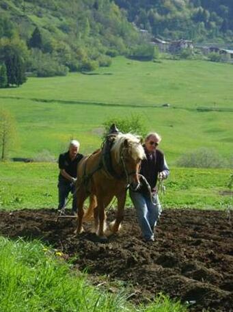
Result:
<svg viewBox="0 0 233 312"><path fill-rule="evenodd" d="M77 164L83 158L79 154L79 142L72 140L69 145L69 150L66 153L59 155L59 177L58 177L58 194L59 205L58 209L62 209L68 198L68 194L73 194L72 213L77 213L77 197L75 192L75 182L77 181Z"/></svg>

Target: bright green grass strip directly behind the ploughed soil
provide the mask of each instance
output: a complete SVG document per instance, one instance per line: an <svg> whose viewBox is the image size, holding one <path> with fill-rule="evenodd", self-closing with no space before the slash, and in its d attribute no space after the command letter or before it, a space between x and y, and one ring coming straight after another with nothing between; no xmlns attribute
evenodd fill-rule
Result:
<svg viewBox="0 0 233 312"><path fill-rule="evenodd" d="M163 207L226 209L232 198L221 192L229 190L230 172L172 167L161 194ZM56 208L57 176L53 163L0 163L0 209ZM126 205L132 206L129 198Z"/></svg>

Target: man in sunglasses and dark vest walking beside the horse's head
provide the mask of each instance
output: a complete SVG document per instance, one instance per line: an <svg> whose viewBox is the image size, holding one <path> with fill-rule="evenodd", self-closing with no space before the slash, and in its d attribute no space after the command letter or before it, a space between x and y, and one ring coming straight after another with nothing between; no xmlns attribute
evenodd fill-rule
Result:
<svg viewBox="0 0 233 312"><path fill-rule="evenodd" d="M140 174L148 183L146 185L142 183L137 192L130 190L131 200L137 211L139 226L146 242L154 242L154 229L162 211L156 192L157 180L166 179L169 175L164 154L157 149L160 142L161 136L158 133L149 133L146 136L143 144L146 158L141 161Z"/></svg>

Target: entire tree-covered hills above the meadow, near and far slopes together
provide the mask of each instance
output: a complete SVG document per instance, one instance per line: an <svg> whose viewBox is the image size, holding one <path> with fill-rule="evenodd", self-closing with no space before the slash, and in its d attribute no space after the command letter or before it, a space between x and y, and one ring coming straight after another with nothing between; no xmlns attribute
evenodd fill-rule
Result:
<svg viewBox="0 0 233 312"><path fill-rule="evenodd" d="M232 17L229 0L1 1L0 88L96 70L117 55L153 60L152 36L230 49Z"/></svg>

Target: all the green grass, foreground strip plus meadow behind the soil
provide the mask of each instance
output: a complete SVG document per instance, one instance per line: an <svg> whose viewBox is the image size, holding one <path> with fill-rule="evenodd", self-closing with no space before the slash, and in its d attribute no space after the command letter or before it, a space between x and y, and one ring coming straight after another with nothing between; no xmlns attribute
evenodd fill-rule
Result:
<svg viewBox="0 0 233 312"><path fill-rule="evenodd" d="M148 131L163 137L161 148L171 168L167 191L161 193L163 208L223 209L227 218L231 170L175 164L182 153L201 147L232 157L232 79L229 64L123 57L89 75L31 77L20 88L0 90L0 108L16 119L18 138L9 157L46 151L56 159L70 138L81 142L81 153L90 153L102 142L103 122L137 114ZM56 208L57 175L55 162L1 162L0 209ZM126 205L131 206L129 198ZM72 263L64 263L59 250L40 242L0 237L0 248L1 311L187 311L162 295L134 307L126 301L127 289L120 287L117 294L94 289L85 276L70 271Z"/></svg>

